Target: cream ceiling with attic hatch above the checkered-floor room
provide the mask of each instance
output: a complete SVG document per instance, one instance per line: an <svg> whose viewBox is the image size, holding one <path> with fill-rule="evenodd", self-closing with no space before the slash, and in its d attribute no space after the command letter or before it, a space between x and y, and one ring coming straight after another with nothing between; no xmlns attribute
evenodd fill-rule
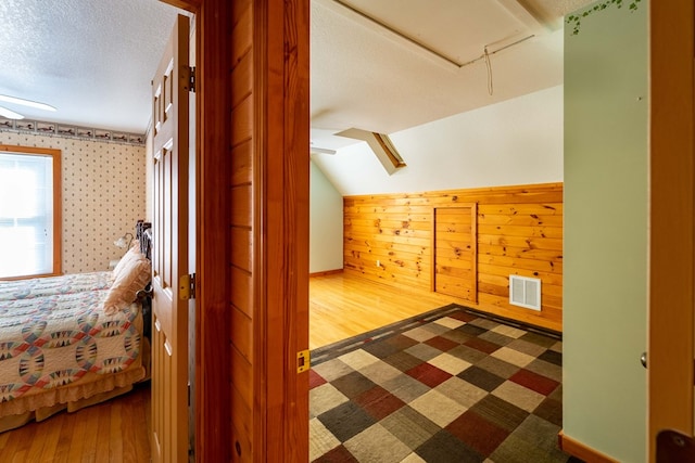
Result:
<svg viewBox="0 0 695 463"><path fill-rule="evenodd" d="M350 127L388 134L561 83L563 15L590 2L314 0L314 144L339 149L354 141L331 134Z"/></svg>

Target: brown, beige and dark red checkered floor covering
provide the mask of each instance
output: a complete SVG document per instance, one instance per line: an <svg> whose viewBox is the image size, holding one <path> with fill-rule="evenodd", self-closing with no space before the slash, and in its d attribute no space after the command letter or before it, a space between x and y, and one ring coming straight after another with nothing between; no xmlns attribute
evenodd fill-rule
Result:
<svg viewBox="0 0 695 463"><path fill-rule="evenodd" d="M559 336L447 306L313 357L311 461L579 461L557 446Z"/></svg>

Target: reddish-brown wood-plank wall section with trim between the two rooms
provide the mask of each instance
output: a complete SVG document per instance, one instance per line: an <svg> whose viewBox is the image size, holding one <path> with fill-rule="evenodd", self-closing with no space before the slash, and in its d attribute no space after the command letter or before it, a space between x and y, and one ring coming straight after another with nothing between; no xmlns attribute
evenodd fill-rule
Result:
<svg viewBox="0 0 695 463"><path fill-rule="evenodd" d="M195 13L195 461L306 462L308 0Z"/></svg>

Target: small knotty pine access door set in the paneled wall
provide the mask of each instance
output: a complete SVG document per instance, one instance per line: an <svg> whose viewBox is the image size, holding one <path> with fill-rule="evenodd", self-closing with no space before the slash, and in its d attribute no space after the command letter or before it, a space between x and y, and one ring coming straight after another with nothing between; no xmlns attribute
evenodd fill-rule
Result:
<svg viewBox="0 0 695 463"><path fill-rule="evenodd" d="M433 286L437 293L477 303L477 205L434 209Z"/></svg>

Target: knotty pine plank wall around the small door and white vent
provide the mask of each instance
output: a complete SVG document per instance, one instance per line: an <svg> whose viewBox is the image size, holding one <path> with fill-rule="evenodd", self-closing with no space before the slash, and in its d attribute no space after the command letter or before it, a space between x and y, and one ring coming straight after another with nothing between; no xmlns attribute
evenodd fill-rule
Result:
<svg viewBox="0 0 695 463"><path fill-rule="evenodd" d="M345 272L429 291L433 209L466 203L478 205L478 304L468 305L561 331L561 183L346 196ZM541 279L540 312L509 305L509 274Z"/></svg>

